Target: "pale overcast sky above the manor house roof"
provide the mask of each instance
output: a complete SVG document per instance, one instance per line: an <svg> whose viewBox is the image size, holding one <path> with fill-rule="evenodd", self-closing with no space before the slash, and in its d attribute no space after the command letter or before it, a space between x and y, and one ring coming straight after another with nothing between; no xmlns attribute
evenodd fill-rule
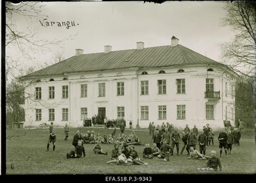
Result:
<svg viewBox="0 0 256 183"><path fill-rule="evenodd" d="M170 45L172 36L179 44L214 61L221 62L220 44L230 41L234 34L230 27L221 27L225 17L223 1L166 1L161 4L143 1L78 1L47 2L44 10L31 21L20 17L17 29L36 29L36 37L61 41L51 45L54 53L61 53L65 59L83 49L84 54L104 52L105 45L112 50L136 48L142 41L147 47ZM58 26L58 22L72 22L73 26ZM47 22L49 24L47 24ZM51 22L55 24L51 25ZM75 25L75 26L74 26ZM29 27L26 28L26 27ZM15 48L8 48L15 53ZM20 67L39 66L52 62L52 52L34 54L32 60L24 60Z"/></svg>

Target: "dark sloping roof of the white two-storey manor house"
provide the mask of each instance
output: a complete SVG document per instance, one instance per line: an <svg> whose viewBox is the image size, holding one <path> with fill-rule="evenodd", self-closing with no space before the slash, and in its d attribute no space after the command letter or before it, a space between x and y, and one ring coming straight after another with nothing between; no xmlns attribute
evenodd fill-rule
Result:
<svg viewBox="0 0 256 183"><path fill-rule="evenodd" d="M63 75L83 71L118 68L158 68L190 64L221 64L182 45L118 50L109 53L82 54L70 57L26 77Z"/></svg>

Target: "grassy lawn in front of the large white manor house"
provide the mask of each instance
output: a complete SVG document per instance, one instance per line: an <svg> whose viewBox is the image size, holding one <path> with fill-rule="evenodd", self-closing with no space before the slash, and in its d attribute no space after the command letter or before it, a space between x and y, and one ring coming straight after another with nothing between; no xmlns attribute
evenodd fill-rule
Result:
<svg viewBox="0 0 256 183"><path fill-rule="evenodd" d="M142 152L144 145L135 146L141 159L148 165L107 165L111 157L113 145L102 144L102 148L108 152L108 155L94 154L93 144L84 144L86 157L79 159L67 159L66 154L74 149L72 138L77 129L81 133L93 130L100 133L101 136L109 135L113 129L108 128L72 128L70 136L65 142L63 128L55 129L57 135L56 150L52 151L52 143L49 152L46 151L49 138L49 129L26 129L26 135L13 136L6 140L6 175L127 175L127 174L184 174L197 175L208 174L209 172L199 172L196 168L205 166L206 161L189 160L186 150L180 156L170 156L170 161L164 162L163 159L143 159ZM152 145L152 139L148 135L148 129L134 129L143 144L149 142ZM6 136L22 135L25 130L8 129ZM129 135L131 129L125 129L125 134ZM120 129L116 129L116 135ZM216 132L218 136L218 132ZM253 132L243 132L239 147L233 145L232 154L228 157L221 157L222 172L212 172L209 174L255 174L256 173L256 145L253 138ZM181 147L180 147L181 149ZM198 150L198 146L196 146ZM214 146L208 146L206 155L210 155L211 150L216 150L217 156L220 156L218 149L218 140L214 138ZM225 154L223 150L223 154Z"/></svg>

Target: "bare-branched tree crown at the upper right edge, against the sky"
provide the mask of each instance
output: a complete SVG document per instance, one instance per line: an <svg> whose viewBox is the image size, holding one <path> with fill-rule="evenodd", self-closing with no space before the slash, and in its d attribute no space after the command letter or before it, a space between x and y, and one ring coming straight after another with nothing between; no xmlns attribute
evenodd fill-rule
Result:
<svg viewBox="0 0 256 183"><path fill-rule="evenodd" d="M232 70L254 77L256 66L256 3L233 1L225 5L227 16L223 26L230 26L235 33L230 43L221 45L222 59Z"/></svg>

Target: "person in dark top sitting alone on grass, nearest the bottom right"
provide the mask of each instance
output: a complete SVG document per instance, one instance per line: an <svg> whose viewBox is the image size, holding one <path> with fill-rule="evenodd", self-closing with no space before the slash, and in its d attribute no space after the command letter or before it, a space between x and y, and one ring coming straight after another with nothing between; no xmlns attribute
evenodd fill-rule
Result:
<svg viewBox="0 0 256 183"><path fill-rule="evenodd" d="M216 157L216 151L212 150L211 151L211 157L209 157L205 168L198 168L197 170L217 172L218 171L218 166L220 168L220 171L222 171L220 158Z"/></svg>

